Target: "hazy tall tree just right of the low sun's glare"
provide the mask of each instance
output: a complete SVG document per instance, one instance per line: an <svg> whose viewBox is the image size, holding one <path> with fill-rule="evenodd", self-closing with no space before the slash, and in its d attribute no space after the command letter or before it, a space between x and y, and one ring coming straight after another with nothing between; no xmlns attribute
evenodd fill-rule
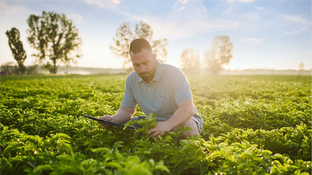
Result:
<svg viewBox="0 0 312 175"><path fill-rule="evenodd" d="M233 43L230 37L216 35L213 37L210 50L205 51L204 60L207 63L207 69L212 74L218 74L223 69L223 64L229 64L232 58Z"/></svg>

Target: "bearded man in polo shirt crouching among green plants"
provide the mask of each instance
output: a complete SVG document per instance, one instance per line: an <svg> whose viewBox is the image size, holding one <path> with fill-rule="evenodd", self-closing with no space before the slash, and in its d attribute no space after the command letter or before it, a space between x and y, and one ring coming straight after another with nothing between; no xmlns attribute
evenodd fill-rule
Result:
<svg viewBox="0 0 312 175"><path fill-rule="evenodd" d="M158 124L148 131L150 137L159 137L171 130L176 132L183 123L193 129L184 131L183 138L200 135L202 117L193 104L185 74L172 65L160 63L149 42L143 38L131 41L129 54L135 71L126 79L121 107L115 115L99 118L117 123L143 119L145 116L132 117L139 105L147 116L151 112L156 115ZM110 127L109 124L102 126Z"/></svg>

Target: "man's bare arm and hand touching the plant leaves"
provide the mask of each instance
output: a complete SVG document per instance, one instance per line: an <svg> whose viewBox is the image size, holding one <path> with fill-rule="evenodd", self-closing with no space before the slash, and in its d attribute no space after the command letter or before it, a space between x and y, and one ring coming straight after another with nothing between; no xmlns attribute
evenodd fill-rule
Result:
<svg viewBox="0 0 312 175"><path fill-rule="evenodd" d="M164 135L166 131L170 131L178 125L183 124L191 116L194 115L194 103L193 99L184 100L178 104L178 109L174 112L173 116L170 117L167 121L159 122L155 128L148 131L150 137L159 137Z"/></svg>

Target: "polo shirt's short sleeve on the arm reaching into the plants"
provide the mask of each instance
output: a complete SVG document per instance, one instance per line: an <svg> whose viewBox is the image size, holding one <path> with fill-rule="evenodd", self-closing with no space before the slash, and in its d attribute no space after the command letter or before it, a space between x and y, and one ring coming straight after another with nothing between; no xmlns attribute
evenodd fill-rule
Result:
<svg viewBox="0 0 312 175"><path fill-rule="evenodd" d="M190 83L181 70L176 74L173 81L173 97L177 105L192 98Z"/></svg>

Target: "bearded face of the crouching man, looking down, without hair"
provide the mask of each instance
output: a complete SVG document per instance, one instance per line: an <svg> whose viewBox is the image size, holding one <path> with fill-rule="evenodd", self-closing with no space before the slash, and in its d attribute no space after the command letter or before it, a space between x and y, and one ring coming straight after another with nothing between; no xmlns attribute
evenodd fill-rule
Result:
<svg viewBox="0 0 312 175"><path fill-rule="evenodd" d="M135 72L149 83L156 73L156 54L151 50L143 49L137 54L130 52L130 58Z"/></svg>

